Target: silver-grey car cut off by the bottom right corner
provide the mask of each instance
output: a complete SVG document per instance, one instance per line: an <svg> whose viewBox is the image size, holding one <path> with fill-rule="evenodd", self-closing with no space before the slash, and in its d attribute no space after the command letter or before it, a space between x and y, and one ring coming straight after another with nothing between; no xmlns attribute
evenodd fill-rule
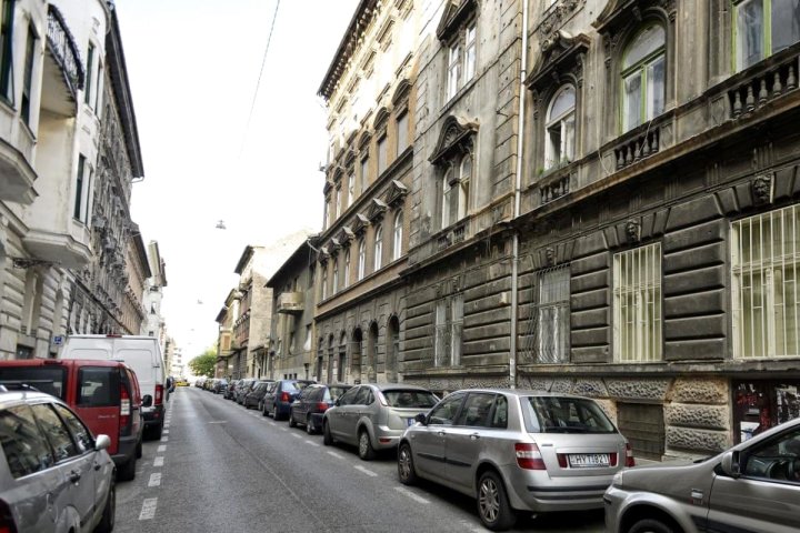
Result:
<svg viewBox="0 0 800 533"><path fill-rule="evenodd" d="M800 531L800 419L701 461L638 466L606 491L610 533Z"/></svg>

